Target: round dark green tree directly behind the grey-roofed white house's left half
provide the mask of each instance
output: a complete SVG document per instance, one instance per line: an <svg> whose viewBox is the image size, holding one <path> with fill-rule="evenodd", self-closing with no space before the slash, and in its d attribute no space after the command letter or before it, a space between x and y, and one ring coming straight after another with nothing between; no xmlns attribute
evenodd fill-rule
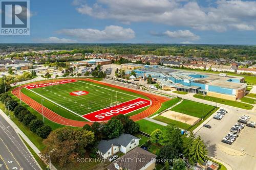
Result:
<svg viewBox="0 0 256 170"><path fill-rule="evenodd" d="M103 128L103 134L107 139L117 138L123 132L123 124L117 119L110 119Z"/></svg>

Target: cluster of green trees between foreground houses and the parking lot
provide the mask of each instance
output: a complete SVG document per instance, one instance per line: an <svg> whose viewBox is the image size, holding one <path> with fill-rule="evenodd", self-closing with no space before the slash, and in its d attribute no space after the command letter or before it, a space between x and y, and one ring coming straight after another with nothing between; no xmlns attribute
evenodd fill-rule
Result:
<svg viewBox="0 0 256 170"><path fill-rule="evenodd" d="M195 135L190 133L188 138L183 137L181 130L173 125L166 126L163 131L160 129L153 131L150 141L161 145L158 157L170 160L168 163L178 159L179 154L183 154L193 165L196 163L203 164L204 160L207 159L207 148L201 136L195 138ZM178 162L182 164L180 161ZM185 162L183 161L183 163ZM172 165L174 164L172 163Z"/></svg>

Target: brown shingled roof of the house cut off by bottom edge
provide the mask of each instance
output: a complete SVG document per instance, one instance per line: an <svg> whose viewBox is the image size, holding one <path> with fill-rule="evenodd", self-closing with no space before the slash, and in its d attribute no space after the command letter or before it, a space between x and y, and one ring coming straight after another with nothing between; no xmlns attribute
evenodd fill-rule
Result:
<svg viewBox="0 0 256 170"><path fill-rule="evenodd" d="M130 170L138 170L145 166L148 162L151 162L157 156L143 150L142 148L136 147L129 153L121 156L109 166L107 166L110 170L116 170L115 163L122 167L122 169L130 169ZM140 159L143 158L143 161ZM120 161L120 160L130 160L130 161Z"/></svg>

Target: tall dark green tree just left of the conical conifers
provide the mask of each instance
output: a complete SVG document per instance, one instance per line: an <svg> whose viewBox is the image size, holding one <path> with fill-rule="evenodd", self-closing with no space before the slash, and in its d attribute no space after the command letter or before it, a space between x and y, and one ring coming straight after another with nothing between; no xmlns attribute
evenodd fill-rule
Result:
<svg viewBox="0 0 256 170"><path fill-rule="evenodd" d="M183 140L181 138L181 130L173 125L167 125L164 128L164 143L172 144L179 152L182 152Z"/></svg>

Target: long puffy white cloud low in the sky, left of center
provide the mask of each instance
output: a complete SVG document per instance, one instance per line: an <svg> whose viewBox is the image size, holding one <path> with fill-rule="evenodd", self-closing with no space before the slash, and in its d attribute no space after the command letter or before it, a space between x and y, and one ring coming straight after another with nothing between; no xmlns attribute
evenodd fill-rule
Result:
<svg viewBox="0 0 256 170"><path fill-rule="evenodd" d="M93 42L93 41L119 41L127 40L135 37L135 32L130 29L124 29L119 26L107 26L104 30L96 29L62 29L57 31L59 34L76 37L80 40Z"/></svg>

